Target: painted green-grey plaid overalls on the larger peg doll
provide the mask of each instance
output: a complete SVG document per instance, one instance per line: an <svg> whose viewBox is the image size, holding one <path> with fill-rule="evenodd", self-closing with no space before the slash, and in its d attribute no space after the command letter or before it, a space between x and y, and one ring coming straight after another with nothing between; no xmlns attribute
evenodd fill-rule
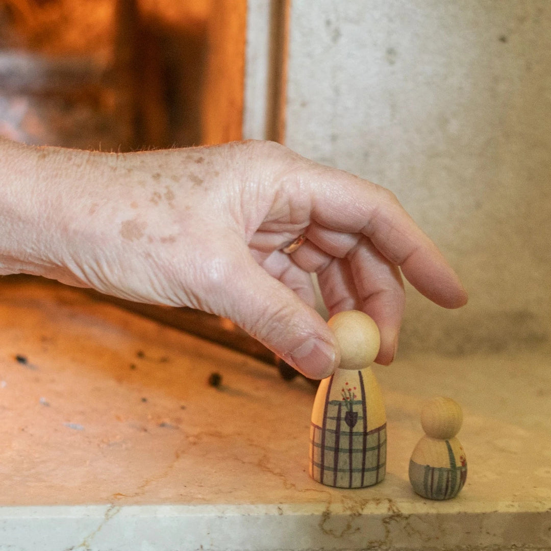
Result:
<svg viewBox="0 0 551 551"><path fill-rule="evenodd" d="M361 400L329 401L324 426L310 425L310 476L337 488L381 482L386 473L386 423L367 427Z"/></svg>

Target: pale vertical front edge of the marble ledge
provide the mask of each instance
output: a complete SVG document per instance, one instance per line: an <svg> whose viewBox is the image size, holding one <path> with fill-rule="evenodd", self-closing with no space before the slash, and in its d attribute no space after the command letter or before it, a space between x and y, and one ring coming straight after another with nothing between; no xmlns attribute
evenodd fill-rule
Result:
<svg viewBox="0 0 551 551"><path fill-rule="evenodd" d="M549 510L404 513L323 506L89 505L0 509L2 551L548 550ZM339 509L339 507L337 507ZM535 513L535 515L534 515Z"/></svg>

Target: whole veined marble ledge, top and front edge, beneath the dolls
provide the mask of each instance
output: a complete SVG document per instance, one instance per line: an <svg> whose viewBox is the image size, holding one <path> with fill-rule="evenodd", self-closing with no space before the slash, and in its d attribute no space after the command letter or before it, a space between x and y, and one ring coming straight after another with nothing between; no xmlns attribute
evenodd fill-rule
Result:
<svg viewBox="0 0 551 551"><path fill-rule="evenodd" d="M0 551L551 549L550 364L377 368L386 478L332 489L307 474L306 381L73 289L0 285ZM435 395L464 410L467 483L445 502L407 478Z"/></svg>

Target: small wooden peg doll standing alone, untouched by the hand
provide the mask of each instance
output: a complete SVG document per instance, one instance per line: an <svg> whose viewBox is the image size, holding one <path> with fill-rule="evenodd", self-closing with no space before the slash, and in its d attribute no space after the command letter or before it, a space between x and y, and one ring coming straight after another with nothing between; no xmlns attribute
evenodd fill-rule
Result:
<svg viewBox="0 0 551 551"><path fill-rule="evenodd" d="M451 499L467 479L467 460L456 434L461 428L461 407L451 398L438 397L421 412L425 431L409 461L409 481L428 499Z"/></svg>

